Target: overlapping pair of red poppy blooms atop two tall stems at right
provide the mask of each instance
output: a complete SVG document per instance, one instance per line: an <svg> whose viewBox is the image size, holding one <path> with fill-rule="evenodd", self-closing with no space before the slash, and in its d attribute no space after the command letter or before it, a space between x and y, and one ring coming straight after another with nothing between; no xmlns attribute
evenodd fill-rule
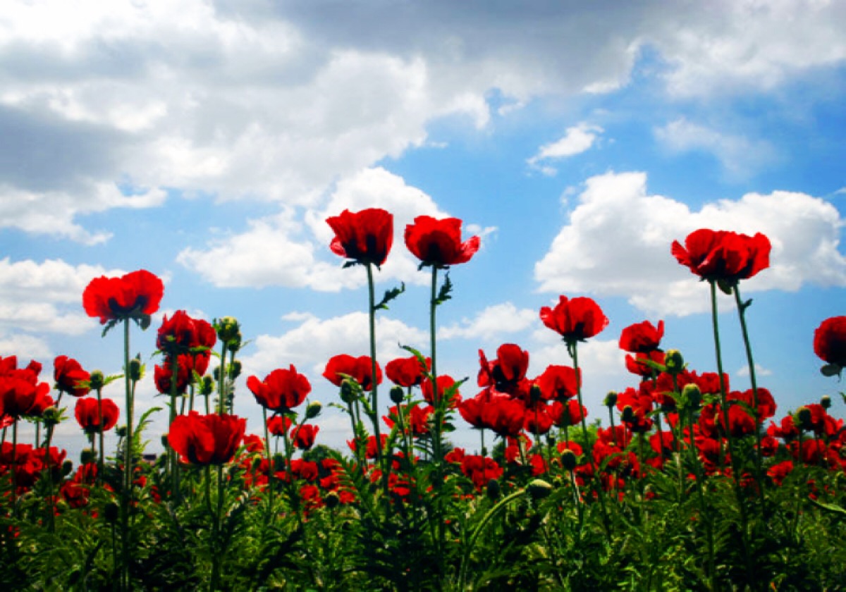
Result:
<svg viewBox="0 0 846 592"><path fill-rule="evenodd" d="M737 282L769 267L770 249L770 239L761 233L750 237L700 228L684 239L684 247L673 241L671 252L702 279Z"/></svg>

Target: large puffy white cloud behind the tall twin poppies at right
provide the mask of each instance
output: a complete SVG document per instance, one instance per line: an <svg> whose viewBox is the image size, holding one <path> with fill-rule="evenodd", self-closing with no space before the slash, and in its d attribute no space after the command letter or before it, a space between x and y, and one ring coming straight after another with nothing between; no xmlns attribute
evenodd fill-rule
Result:
<svg viewBox="0 0 846 592"><path fill-rule="evenodd" d="M846 286L842 226L838 211L811 195L749 193L691 211L649 195L645 173L606 173L587 180L535 277L543 292L623 296L649 314L689 315L708 310L709 299L670 255L673 240L683 242L700 227L765 233L771 267L744 282L744 293L794 291L805 284Z"/></svg>

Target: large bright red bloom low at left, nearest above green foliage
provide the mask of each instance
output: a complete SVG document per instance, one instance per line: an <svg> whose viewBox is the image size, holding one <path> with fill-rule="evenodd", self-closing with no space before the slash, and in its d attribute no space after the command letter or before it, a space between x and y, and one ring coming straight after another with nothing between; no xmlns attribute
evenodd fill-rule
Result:
<svg viewBox="0 0 846 592"><path fill-rule="evenodd" d="M183 463L225 464L235 455L246 428L247 420L235 415L191 411L173 420L168 442Z"/></svg>

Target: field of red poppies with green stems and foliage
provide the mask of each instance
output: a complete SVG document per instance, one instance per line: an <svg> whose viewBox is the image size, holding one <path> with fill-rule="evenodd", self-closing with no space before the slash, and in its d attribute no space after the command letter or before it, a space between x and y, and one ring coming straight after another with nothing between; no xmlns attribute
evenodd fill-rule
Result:
<svg viewBox="0 0 846 592"><path fill-rule="evenodd" d="M327 360L332 401L311 400L285 360L265 376L242 367L250 329L232 317L178 310L151 326L166 294L146 270L80 294L123 353L102 361L119 373L60 355L50 376L0 357L3 589L846 589L846 429L830 413L843 401L779 408L755 375L740 291L770 265L766 236L700 229L667 245L710 290L714 367L685 364L662 343L663 321L628 326L619 347L633 386L605 394L607 416L593 418L579 348L608 325L595 300L541 308L569 354L541 375L526 375L530 352L516 343L480 350L470 381L439 374L437 311L460 298L448 274L480 239L463 240L459 219L417 217L404 246L431 274L430 340L376 359L376 315L404 293L374 288L393 216L327 223L332 252L367 275L371 344ZM719 326L717 299L733 301L739 327ZM157 332L153 370L130 357L138 331ZM742 385L723 371L727 340L744 343ZM846 316L820 319L808 343L838 390ZM135 414L150 372L167 434ZM236 394L261 407L260 433L233 413ZM349 419L346 450L321 446L325 405ZM79 459L54 437L74 421L89 442ZM34 440L19 437L24 422ZM479 446L453 447L450 434L468 429ZM146 459L159 438L164 452Z"/></svg>

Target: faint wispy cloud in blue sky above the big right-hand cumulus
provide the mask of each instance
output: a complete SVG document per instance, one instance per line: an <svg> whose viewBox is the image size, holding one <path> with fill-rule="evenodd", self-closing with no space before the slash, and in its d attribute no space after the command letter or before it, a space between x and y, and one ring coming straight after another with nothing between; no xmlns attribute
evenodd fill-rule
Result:
<svg viewBox="0 0 846 592"><path fill-rule="evenodd" d="M778 159L776 151L764 140L750 140L743 135L726 134L685 118L678 118L655 130L658 140L672 151L708 151L734 178L755 173Z"/></svg>

